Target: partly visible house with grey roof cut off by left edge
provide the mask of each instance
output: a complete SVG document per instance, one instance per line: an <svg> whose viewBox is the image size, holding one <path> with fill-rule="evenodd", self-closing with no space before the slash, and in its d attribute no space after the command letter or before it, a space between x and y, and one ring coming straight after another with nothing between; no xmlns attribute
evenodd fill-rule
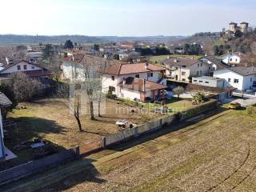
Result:
<svg viewBox="0 0 256 192"><path fill-rule="evenodd" d="M12 103L10 102L9 98L6 97L5 94L0 92L0 161L6 158L6 146L4 143L4 131L2 127L2 108L6 106L10 106Z"/></svg>

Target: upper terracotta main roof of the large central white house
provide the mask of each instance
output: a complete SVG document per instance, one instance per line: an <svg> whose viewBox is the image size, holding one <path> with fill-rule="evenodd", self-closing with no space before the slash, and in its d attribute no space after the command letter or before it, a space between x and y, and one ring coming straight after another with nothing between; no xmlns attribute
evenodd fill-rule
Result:
<svg viewBox="0 0 256 192"><path fill-rule="evenodd" d="M149 63L117 63L113 66L110 66L104 71L104 74L115 74L115 75L122 75L122 74L138 74L138 73L147 73L153 71L162 71L166 70L166 68L162 66L156 66Z"/></svg>

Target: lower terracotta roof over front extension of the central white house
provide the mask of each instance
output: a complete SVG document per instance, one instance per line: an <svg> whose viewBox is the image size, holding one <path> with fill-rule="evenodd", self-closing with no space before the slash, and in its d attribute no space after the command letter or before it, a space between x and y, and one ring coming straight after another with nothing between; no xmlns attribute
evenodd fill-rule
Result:
<svg viewBox="0 0 256 192"><path fill-rule="evenodd" d="M126 78L123 82L120 82L119 85L122 88L138 90L139 92L145 92L149 90L162 90L167 88L167 86L163 86L157 82L151 82L142 78L132 77Z"/></svg>

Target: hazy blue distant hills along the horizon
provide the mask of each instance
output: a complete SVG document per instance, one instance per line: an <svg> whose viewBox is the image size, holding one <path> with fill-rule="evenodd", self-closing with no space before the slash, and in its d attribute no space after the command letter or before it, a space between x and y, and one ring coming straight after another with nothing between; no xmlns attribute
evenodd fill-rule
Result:
<svg viewBox="0 0 256 192"><path fill-rule="evenodd" d="M146 36L146 37L118 37L118 36L85 36L85 35L56 35L56 36L33 36L17 34L0 34L0 45L6 44L34 44L34 43L59 43L64 44L70 39L77 43L106 43L106 42L172 42L186 38L185 36Z"/></svg>

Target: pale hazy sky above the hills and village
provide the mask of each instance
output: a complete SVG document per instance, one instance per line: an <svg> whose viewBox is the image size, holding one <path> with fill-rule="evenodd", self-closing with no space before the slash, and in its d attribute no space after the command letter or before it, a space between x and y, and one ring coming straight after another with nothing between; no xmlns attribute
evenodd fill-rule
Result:
<svg viewBox="0 0 256 192"><path fill-rule="evenodd" d="M256 0L0 0L0 34L190 35L256 24Z"/></svg>

